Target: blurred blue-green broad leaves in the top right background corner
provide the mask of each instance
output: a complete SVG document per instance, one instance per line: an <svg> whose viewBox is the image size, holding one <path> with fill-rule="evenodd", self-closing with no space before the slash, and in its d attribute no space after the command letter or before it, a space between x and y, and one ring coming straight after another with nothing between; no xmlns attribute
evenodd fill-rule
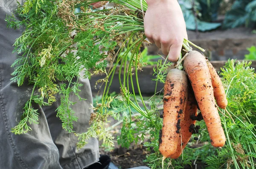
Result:
<svg viewBox="0 0 256 169"><path fill-rule="evenodd" d="M211 23L217 19L218 8L223 0L180 0L187 29L209 31L221 26L221 23ZM196 23L195 23L196 20ZM231 9L226 12L222 28L236 28L245 25L255 28L256 0L236 0Z"/></svg>

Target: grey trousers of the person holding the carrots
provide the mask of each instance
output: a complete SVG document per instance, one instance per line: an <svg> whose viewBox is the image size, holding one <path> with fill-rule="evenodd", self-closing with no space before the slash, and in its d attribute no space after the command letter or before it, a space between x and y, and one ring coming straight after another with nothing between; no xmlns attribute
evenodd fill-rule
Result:
<svg viewBox="0 0 256 169"><path fill-rule="evenodd" d="M62 130L61 121L56 118L60 96L51 107L33 105L38 109L40 124L31 124L31 132L22 135L10 132L20 121L22 108L32 90L32 86L17 87L10 81L13 72L10 66L17 55L12 54L12 45L23 30L6 28L4 19L16 7L16 0L0 0L0 169L82 169L99 158L98 141L91 138L86 146L77 150L77 138ZM87 130L92 112L89 80L79 80L84 84L81 97L87 100L78 101L73 107L79 117L73 124L78 133ZM77 101L76 96L71 97Z"/></svg>

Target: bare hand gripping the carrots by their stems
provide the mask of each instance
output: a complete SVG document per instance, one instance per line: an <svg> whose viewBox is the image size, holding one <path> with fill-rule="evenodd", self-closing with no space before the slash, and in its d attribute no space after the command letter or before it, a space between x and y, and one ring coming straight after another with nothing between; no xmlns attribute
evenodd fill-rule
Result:
<svg viewBox="0 0 256 169"><path fill-rule="evenodd" d="M144 17L145 35L155 43L171 62L177 62L187 39L186 24L177 0L146 0L148 9Z"/></svg>

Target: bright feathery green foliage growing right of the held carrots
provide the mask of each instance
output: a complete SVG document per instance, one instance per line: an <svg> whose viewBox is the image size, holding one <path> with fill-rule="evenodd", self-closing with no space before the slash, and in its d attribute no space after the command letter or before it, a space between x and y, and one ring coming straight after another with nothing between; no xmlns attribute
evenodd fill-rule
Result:
<svg viewBox="0 0 256 169"><path fill-rule="evenodd" d="M222 117L226 146L217 155L207 158L209 168L255 168L256 74L250 64L244 61L235 64L235 60L228 60L221 69L228 99L227 110L236 118L236 124Z"/></svg>

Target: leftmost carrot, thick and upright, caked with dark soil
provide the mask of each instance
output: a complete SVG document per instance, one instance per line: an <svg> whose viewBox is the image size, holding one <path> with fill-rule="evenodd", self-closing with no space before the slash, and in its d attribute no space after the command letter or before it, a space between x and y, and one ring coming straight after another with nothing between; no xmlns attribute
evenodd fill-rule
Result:
<svg viewBox="0 0 256 169"><path fill-rule="evenodd" d="M176 152L180 141L180 121L186 107L187 82L184 71L169 70L164 85L163 128L159 139L159 151L163 160Z"/></svg>

